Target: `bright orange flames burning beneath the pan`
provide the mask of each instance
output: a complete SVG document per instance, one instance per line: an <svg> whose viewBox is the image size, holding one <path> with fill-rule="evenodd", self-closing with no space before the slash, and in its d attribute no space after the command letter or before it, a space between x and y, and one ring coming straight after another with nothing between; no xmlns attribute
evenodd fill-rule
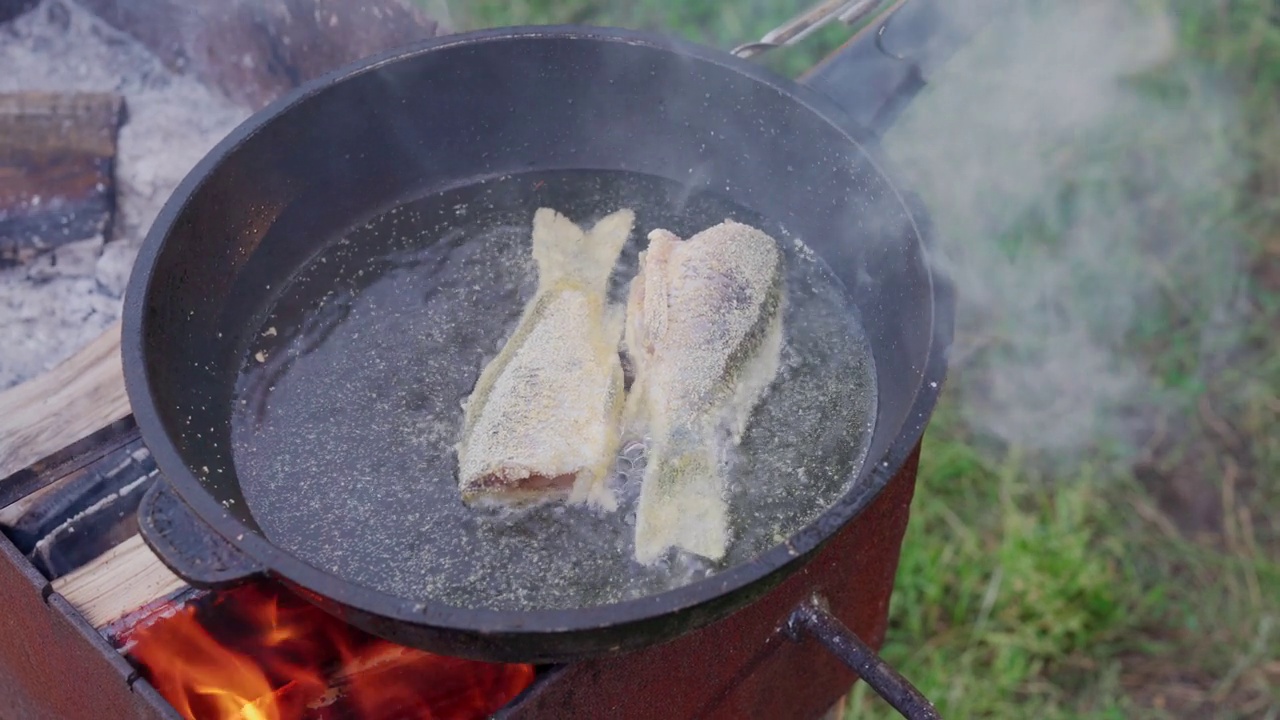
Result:
<svg viewBox="0 0 1280 720"><path fill-rule="evenodd" d="M531 665L389 643L266 583L212 593L122 639L192 720L486 717L534 679Z"/></svg>

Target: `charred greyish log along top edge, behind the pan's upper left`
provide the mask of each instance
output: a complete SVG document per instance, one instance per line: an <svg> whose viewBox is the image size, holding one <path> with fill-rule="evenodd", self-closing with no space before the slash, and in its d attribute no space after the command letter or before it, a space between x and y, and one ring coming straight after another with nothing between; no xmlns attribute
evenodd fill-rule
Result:
<svg viewBox="0 0 1280 720"><path fill-rule="evenodd" d="M81 0L170 69L261 108L352 60L433 37L413 0Z"/></svg>

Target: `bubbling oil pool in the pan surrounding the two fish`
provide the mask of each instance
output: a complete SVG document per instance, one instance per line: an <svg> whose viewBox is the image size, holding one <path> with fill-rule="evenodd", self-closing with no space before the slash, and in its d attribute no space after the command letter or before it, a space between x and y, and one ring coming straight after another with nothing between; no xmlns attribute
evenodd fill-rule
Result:
<svg viewBox="0 0 1280 720"><path fill-rule="evenodd" d="M613 478L617 512L462 505L461 404L534 292L539 206L580 224L636 211L617 301L658 227L689 237L732 218L783 246L782 370L728 454L733 541L722 562L632 561L636 443L625 442ZM323 246L244 333L232 446L266 537L352 583L494 610L632 600L783 542L849 492L865 456L877 383L845 288L801 238L714 192L617 170L503 176L403 202Z"/></svg>

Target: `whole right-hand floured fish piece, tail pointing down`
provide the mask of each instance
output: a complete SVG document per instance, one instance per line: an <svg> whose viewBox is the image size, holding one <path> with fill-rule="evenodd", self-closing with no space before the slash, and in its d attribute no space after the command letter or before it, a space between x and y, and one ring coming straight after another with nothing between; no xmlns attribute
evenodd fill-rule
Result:
<svg viewBox="0 0 1280 720"><path fill-rule="evenodd" d="M635 368L625 427L650 439L635 559L678 547L721 560L728 502L719 436L741 439L778 373L783 256L767 233L726 220L687 241L649 233L628 291L623 346Z"/></svg>

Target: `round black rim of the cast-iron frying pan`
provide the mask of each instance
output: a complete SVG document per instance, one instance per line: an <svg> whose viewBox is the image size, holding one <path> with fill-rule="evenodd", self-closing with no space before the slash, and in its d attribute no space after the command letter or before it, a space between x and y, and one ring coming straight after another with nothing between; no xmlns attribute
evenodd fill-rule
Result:
<svg viewBox="0 0 1280 720"><path fill-rule="evenodd" d="M925 291L931 297L928 309L931 341L920 373L920 386L915 388L913 407L908 411L902 428L897 432L886 454L881 457L868 456L858 469L852 488L786 542L774 546L751 561L728 568L709 578L617 603L561 610L453 607L426 600L410 600L358 585L321 570L271 543L265 536L233 516L212 495L204 489L193 469L183 460L170 428L163 421L157 398L152 393L143 338L146 337L146 309L155 279L156 263L165 240L180 222L187 205L229 155L276 118L324 92L329 86L374 72L383 65L460 46L538 38L620 42L672 51L691 60L718 65L746 76L749 79L787 96L791 101L817 115L819 120L832 126L864 155L904 208L911 229L915 232L915 242L922 245L922 252L925 258L928 256L925 236L922 233L915 214L910 211L901 192L891 181L891 176L884 170L883 158L873 147L859 141L861 132L854 127L847 114L833 100L800 82L777 76L728 53L644 31L584 26L524 26L442 36L357 60L300 86L251 114L192 168L152 223L129 278L124 299L122 334L125 388L142 437L155 456L157 466L174 492L195 515L207 524L209 529L260 562L269 574L311 593L321 594L328 601L388 620L430 626L444 632L472 635L538 637L645 624L721 601L721 606L714 612L707 614L701 621L692 621L682 626L682 630L689 630L742 607L785 577L799 570L826 541L845 524L852 521L879 496L919 442L941 392L942 375L946 369L945 348L940 347L938 342L937 269L932 263L925 264L924 275L929 286ZM877 424L872 430L873 436L879 430ZM724 602L726 596L749 588L755 592L740 592L739 594L742 597L739 601ZM655 635L652 642L660 639L666 638ZM556 655L556 652L552 651L550 655Z"/></svg>

